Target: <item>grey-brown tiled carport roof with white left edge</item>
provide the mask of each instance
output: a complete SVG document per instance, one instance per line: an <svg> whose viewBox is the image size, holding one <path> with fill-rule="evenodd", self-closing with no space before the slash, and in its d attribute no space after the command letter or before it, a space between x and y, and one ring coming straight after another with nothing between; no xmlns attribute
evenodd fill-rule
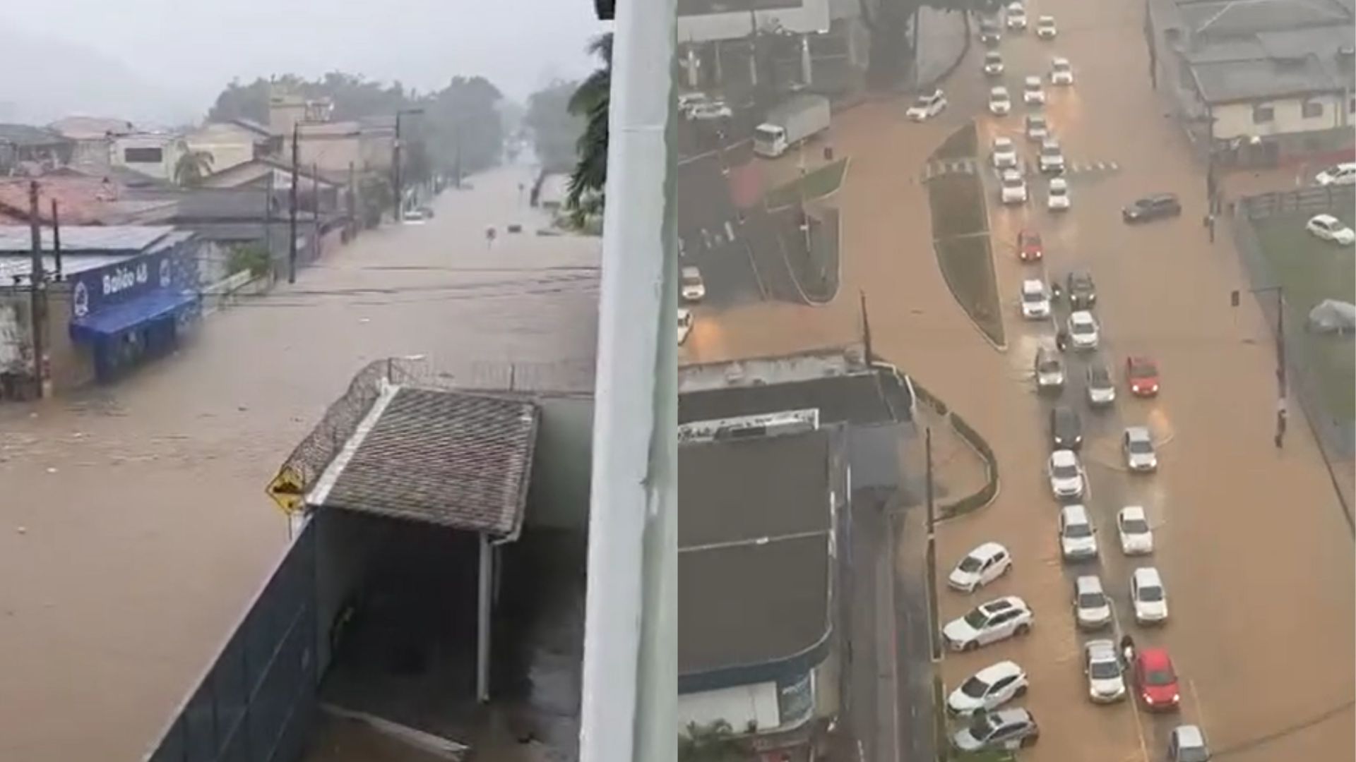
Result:
<svg viewBox="0 0 1356 762"><path fill-rule="evenodd" d="M522 521L538 419L525 400L388 388L308 500L511 534Z"/></svg>

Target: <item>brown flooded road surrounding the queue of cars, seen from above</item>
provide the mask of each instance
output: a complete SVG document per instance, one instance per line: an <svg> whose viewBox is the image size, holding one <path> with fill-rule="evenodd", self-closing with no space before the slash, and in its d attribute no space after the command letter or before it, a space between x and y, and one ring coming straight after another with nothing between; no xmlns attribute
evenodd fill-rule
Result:
<svg viewBox="0 0 1356 762"><path fill-rule="evenodd" d="M917 180L930 152L983 111L989 84L979 75L976 45L945 84L951 107L937 121L909 123L902 103L865 104L835 117L835 146L854 159L838 197L839 298L819 309L746 306L724 312L719 325L704 324L698 313L685 358L858 343L853 294L865 290L875 351L940 395L997 453L998 499L940 529L938 564L945 571L979 542L998 540L1013 552L1013 572L974 597L941 591L941 617L1016 594L1035 609L1037 624L1025 639L948 656L941 670L949 686L1006 658L1031 674L1024 704L1041 723L1041 736L1024 759L1157 759L1166 734L1185 721L1201 724L1215 753L1231 751L1230 759L1351 758L1352 534L1309 428L1292 419L1285 449L1272 442L1271 335L1254 301L1237 309L1229 304L1229 292L1248 281L1227 233L1211 244L1200 224L1204 171L1177 122L1165 118L1169 104L1149 87L1142 4L1039 0L1028 12L1054 14L1059 38L1008 37L1008 85L1044 73L1050 57L1067 56L1078 84L1052 92L1047 107L1066 156L1117 169L1071 174L1073 209L1063 217L1044 212L1043 180L1021 210L990 203L1006 353L984 342L946 290L932 252L926 190ZM989 137L1012 134L1022 113L1001 121L978 117L980 159L987 160ZM1025 141L1018 144L1031 153ZM1120 207L1155 191L1177 193L1182 216L1123 225ZM1092 484L1086 504L1100 530L1100 568L1088 565L1082 574L1100 574L1117 616L1128 618L1130 569L1159 568L1172 621L1153 632L1132 624L1125 630L1170 651L1184 689L1180 716L1151 717L1134 702L1102 708L1086 700L1086 637L1070 611L1074 572L1059 559L1056 503L1043 475L1048 407L1029 372L1036 338L1052 328L1022 324L1017 309L1020 279L1039 271L1012 258L1010 243L1022 226L1043 233L1050 277L1079 266L1097 279L1100 353L1119 399L1113 411L1096 416L1079 399L1081 386L1070 385L1063 397L1083 415ZM1130 399L1123 381L1128 354L1158 361L1161 396ZM1082 362L1071 361L1071 377ZM1158 473L1131 477L1123 470L1117 439L1131 424L1154 431ZM1155 532L1155 553L1143 560L1128 561L1116 544L1113 517L1125 504L1146 506ZM1299 628L1303 637L1296 639Z"/></svg>

